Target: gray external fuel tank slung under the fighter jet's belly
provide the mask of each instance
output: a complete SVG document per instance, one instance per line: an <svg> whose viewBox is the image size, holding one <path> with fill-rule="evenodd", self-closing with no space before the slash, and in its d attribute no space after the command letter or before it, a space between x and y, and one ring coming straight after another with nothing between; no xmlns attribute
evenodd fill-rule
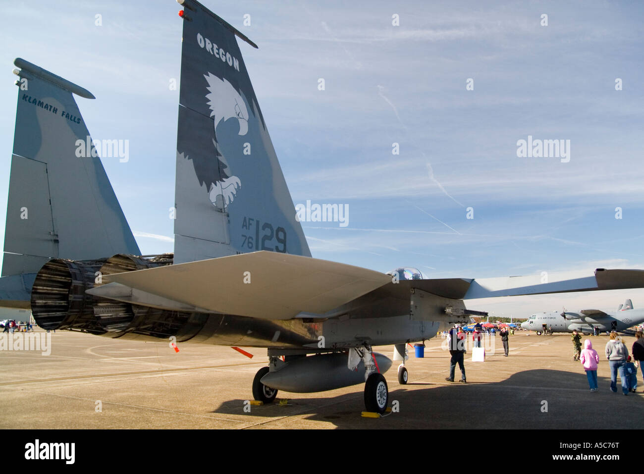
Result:
<svg viewBox="0 0 644 474"><path fill-rule="evenodd" d="M374 352L379 372L384 374L392 366L386 355ZM308 355L298 357L261 377L261 383L277 390L294 393L324 392L365 383L365 363L360 361L356 370L347 367L348 353Z"/></svg>

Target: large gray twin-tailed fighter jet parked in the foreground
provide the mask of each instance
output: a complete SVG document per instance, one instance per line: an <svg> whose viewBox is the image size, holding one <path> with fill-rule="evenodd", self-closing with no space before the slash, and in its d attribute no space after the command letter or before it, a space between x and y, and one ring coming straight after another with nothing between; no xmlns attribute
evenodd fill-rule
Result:
<svg viewBox="0 0 644 474"><path fill-rule="evenodd" d="M365 383L366 409L383 413L392 361L372 347L393 345L406 383L406 343L483 314L464 299L644 287L642 270L426 280L312 258L236 37L257 46L178 3L174 254L140 256L73 99L93 95L17 59L3 305L46 329L268 348L256 400Z"/></svg>

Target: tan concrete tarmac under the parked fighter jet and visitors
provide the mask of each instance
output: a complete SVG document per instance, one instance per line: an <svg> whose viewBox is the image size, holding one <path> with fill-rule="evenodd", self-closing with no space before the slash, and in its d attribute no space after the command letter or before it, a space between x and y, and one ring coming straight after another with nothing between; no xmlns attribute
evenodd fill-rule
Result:
<svg viewBox="0 0 644 474"><path fill-rule="evenodd" d="M600 354L594 393L573 361L569 334L518 332L509 357L497 336L485 362L471 362L468 351L468 383L445 381L450 354L443 339L431 339L422 359L409 348L408 384L397 381L398 362L385 374L398 411L381 419L361 417L363 384L279 392L287 403L249 406L252 379L267 365L265 349L243 348L254 355L249 359L225 346L179 343L177 353L169 341L70 331L51 337L50 355L0 350L0 428L618 429L640 428L644 415L641 370L638 393L623 396L619 377L618 393L609 390L607 336L587 336ZM634 337L624 341L630 351ZM375 350L392 357L392 346Z"/></svg>

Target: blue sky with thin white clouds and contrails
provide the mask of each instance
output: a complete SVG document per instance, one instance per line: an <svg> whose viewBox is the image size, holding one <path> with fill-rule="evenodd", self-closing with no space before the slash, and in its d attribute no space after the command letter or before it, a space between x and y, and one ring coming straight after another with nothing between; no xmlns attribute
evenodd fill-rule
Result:
<svg viewBox="0 0 644 474"><path fill-rule="evenodd" d="M347 227L303 223L314 257L415 266L425 278L644 269L640 3L203 3L260 46L240 45L294 203L349 206ZM103 164L140 248L171 250L178 91L168 85L180 68L180 6L0 8L0 233L10 71L23 57L97 97L77 102L93 138L129 140L129 162ZM570 161L516 156L528 135L570 140ZM643 290L601 293L468 306L518 316L614 308L627 297L644 304Z"/></svg>

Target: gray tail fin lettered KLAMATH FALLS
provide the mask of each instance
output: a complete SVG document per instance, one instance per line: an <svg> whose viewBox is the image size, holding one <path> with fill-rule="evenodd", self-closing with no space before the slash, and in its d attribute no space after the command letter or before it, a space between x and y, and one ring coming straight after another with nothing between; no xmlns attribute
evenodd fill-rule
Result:
<svg viewBox="0 0 644 474"><path fill-rule="evenodd" d="M3 301L28 294L31 275L50 258L140 254L73 98L94 96L24 59L14 64L20 68L14 70L19 91L2 268L8 278L0 280Z"/></svg>

